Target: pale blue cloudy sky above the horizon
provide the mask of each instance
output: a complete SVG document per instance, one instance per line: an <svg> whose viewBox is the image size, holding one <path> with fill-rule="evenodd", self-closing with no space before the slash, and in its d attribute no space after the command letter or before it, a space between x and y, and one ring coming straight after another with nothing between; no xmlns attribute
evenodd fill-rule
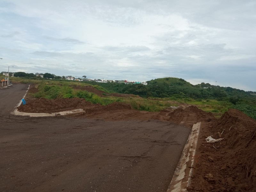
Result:
<svg viewBox="0 0 256 192"><path fill-rule="evenodd" d="M256 1L0 0L0 58L0 71L256 91Z"/></svg>

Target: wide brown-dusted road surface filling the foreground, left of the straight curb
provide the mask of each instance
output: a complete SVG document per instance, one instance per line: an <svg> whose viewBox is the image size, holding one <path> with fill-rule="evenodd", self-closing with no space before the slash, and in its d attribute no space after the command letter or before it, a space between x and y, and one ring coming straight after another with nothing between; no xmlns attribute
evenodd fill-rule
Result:
<svg viewBox="0 0 256 192"><path fill-rule="evenodd" d="M11 110L3 99L0 105ZM0 132L0 191L112 192L166 191L190 129L157 120L10 115L0 119Z"/></svg>

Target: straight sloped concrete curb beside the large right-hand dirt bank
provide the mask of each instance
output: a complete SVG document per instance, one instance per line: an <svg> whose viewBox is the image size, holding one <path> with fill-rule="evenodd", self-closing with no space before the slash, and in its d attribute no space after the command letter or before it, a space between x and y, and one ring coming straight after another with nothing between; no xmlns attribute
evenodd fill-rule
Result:
<svg viewBox="0 0 256 192"><path fill-rule="evenodd" d="M193 171L192 168L194 165L194 157L196 154L196 145L200 126L201 122L193 125L167 192L187 191Z"/></svg>

